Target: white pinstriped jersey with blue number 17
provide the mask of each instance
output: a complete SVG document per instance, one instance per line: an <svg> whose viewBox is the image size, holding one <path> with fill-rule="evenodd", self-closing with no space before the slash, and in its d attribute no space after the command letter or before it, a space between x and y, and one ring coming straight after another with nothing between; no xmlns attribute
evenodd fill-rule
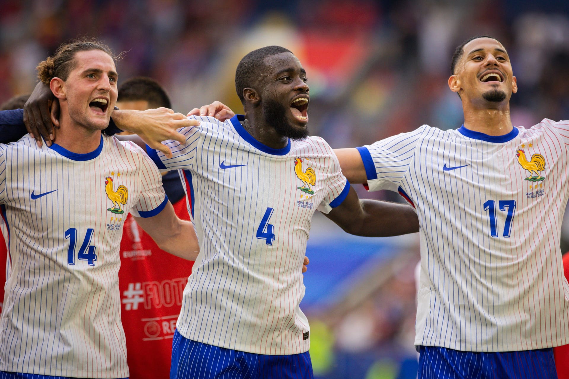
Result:
<svg viewBox="0 0 569 379"><path fill-rule="evenodd" d="M560 225L569 194L569 122L504 136L417 130L358 148L370 190L419 217L415 344L518 351L569 343Z"/></svg>

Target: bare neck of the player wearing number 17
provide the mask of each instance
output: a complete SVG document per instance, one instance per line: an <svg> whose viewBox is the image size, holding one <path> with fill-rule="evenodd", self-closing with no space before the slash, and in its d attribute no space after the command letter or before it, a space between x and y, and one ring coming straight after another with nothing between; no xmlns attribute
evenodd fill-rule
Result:
<svg viewBox="0 0 569 379"><path fill-rule="evenodd" d="M494 109L488 107L467 106L463 101L464 127L490 136L501 136L512 131L510 105L498 105Z"/></svg>

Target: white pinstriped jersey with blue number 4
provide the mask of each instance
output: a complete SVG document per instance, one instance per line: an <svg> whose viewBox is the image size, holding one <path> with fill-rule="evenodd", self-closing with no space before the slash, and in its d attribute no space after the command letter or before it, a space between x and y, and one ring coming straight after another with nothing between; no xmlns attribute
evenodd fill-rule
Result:
<svg viewBox="0 0 569 379"><path fill-rule="evenodd" d="M241 125L196 118L173 157L149 150L162 169L181 169L200 253L177 328L185 338L269 355L308 351L302 263L311 218L328 213L349 184L319 137L274 149Z"/></svg>

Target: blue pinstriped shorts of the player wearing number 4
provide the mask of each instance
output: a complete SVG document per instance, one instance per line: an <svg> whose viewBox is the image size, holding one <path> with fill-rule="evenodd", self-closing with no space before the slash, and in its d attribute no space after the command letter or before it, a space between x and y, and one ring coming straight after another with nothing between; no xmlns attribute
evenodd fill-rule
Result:
<svg viewBox="0 0 569 379"><path fill-rule="evenodd" d="M170 379L312 379L310 354L246 353L196 342L176 330Z"/></svg>

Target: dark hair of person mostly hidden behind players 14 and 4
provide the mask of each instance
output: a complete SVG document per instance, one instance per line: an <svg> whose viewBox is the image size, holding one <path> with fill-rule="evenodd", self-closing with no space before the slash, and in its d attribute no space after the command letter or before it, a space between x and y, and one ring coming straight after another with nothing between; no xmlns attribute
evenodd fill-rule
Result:
<svg viewBox="0 0 569 379"><path fill-rule="evenodd" d="M152 108L171 108L172 103L166 90L152 78L138 76L124 81L118 87L117 101L145 100Z"/></svg>

